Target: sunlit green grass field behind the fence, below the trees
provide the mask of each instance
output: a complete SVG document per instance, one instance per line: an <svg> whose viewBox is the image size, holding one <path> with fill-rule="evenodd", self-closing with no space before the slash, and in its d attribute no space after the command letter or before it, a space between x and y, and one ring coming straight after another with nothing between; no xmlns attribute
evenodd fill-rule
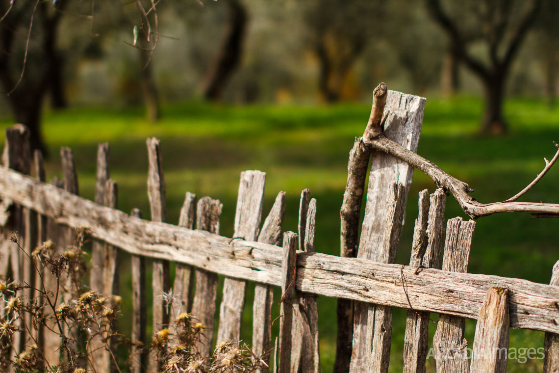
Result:
<svg viewBox="0 0 559 373"><path fill-rule="evenodd" d="M481 101L461 97L428 100L425 106L419 154L437 163L453 176L476 189L482 202L505 200L527 185L544 166L543 157L553 156L559 141L559 110L550 110L537 100L510 100L506 105L510 133L480 137L477 126ZM150 124L141 110L76 108L50 112L44 131L49 144L48 178L60 174L59 148L74 150L79 172L80 194L92 199L97 143L111 145L111 177L119 184L119 207L129 212L139 207L149 219L146 195L147 158L145 139L161 140L167 185L168 221L178 220L184 192L198 197L209 195L224 204L221 234L233 234L233 219L239 174L245 169L267 173L264 214L280 190L287 192L284 230L295 230L299 195L310 188L318 200L316 249L339 252L339 208L347 178L348 152L362 134L370 107L230 107L203 103L164 108L163 119ZM7 126L8 118L0 119ZM523 197L531 201L559 201L559 171L551 172ZM398 263L408 263L417 195L424 188L434 190L429 178L415 172L410 191L406 223L400 240ZM465 215L448 198L446 217ZM553 263L559 259L555 219L530 220L527 214L500 214L478 220L469 272L526 278L548 282ZM130 275L123 262L121 289L130 294ZM249 293L252 289L249 287ZM278 295L278 294L276 294ZM250 296L247 309L252 309ZM130 305L125 304L124 314ZM274 314L277 315L275 310ZM321 358L323 370L334 361L335 300L319 299ZM274 316L275 317L275 316ZM436 315L434 315L436 317ZM121 320L126 332L129 325ZM250 341L250 314L245 313L243 338ZM391 371L401 371L405 311L394 311ZM432 325L433 333L436 325ZM475 322L468 320L467 336L473 341ZM542 347L543 333L511 330L511 347ZM471 347L471 344L470 344ZM509 360L509 371L541 370L542 360L522 363ZM434 371L434 359L428 360Z"/></svg>

